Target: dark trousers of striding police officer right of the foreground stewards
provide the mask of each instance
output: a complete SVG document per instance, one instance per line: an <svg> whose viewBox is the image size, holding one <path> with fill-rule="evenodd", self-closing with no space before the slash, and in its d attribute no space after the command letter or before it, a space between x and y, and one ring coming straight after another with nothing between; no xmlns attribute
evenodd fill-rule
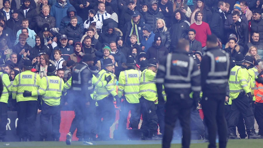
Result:
<svg viewBox="0 0 263 148"><path fill-rule="evenodd" d="M238 125L240 116L243 116L245 119L247 132L250 132L254 128L254 114L247 96L239 95L236 99L232 100L231 112L228 128L229 134L236 134L236 126Z"/></svg>

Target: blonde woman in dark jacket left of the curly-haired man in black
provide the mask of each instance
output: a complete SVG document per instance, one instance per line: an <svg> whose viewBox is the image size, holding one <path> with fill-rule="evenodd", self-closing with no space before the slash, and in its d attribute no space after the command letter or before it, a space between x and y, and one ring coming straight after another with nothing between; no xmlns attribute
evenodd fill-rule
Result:
<svg viewBox="0 0 263 148"><path fill-rule="evenodd" d="M165 46L167 49L169 49L171 44L171 36L169 30L167 30L167 27L165 26L165 21L161 18L159 18L156 21L156 28L153 30L153 32L156 34L157 32L161 35L161 44Z"/></svg>

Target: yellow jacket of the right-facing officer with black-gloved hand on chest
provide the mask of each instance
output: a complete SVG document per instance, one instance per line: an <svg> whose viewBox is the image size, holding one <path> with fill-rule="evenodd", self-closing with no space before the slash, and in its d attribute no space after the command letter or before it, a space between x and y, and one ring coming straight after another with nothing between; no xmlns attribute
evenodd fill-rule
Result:
<svg viewBox="0 0 263 148"><path fill-rule="evenodd" d="M108 84L105 86L105 87L95 87L95 93L96 93L96 100L102 100L103 98L109 96L109 95L112 95L113 97L117 95L117 87L116 87L116 76L109 72L109 71L106 71L104 69L102 69L98 75L97 75L97 78L98 80L100 81L104 81L105 80L105 76L108 77L109 75L111 75L111 80L110 82L108 82Z"/></svg>

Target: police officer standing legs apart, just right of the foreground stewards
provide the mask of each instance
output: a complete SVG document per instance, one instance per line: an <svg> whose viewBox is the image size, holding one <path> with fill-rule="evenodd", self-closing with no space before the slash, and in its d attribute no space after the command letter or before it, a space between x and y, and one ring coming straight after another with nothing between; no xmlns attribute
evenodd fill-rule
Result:
<svg viewBox="0 0 263 148"><path fill-rule="evenodd" d="M229 118L228 127L229 139L236 139L236 125L241 115L245 119L248 139L257 139L261 137L252 132L255 119L251 108L251 102L253 101L250 89L251 77L247 70L249 63L244 61L244 56L242 54L237 54L236 66L231 69L228 81L230 92L229 98L232 99L232 114Z"/></svg>

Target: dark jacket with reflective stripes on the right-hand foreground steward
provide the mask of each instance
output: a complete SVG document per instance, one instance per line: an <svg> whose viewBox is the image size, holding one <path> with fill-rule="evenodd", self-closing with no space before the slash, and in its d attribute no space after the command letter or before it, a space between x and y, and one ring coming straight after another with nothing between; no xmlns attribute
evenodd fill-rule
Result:
<svg viewBox="0 0 263 148"><path fill-rule="evenodd" d="M229 54L225 51L219 50L218 47L206 50L200 68L204 96L207 94L226 94L229 64Z"/></svg>

